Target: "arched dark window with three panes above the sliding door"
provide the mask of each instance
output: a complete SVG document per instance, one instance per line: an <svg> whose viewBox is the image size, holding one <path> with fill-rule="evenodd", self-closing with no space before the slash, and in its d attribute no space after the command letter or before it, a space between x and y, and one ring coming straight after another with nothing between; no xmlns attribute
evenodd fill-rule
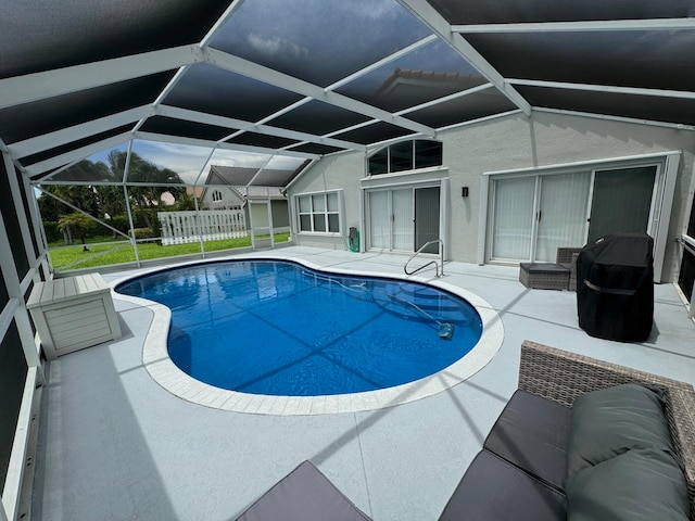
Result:
<svg viewBox="0 0 695 521"><path fill-rule="evenodd" d="M402 141L378 150L369 157L369 175L416 170L442 165L442 143L426 139Z"/></svg>

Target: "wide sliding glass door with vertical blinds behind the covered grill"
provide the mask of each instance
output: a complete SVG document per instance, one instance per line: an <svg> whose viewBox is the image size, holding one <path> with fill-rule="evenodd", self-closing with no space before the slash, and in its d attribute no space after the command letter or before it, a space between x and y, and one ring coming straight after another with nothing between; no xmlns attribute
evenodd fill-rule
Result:
<svg viewBox="0 0 695 521"><path fill-rule="evenodd" d="M646 232L656 177L649 165L494 179L489 257L555 262L559 246Z"/></svg>

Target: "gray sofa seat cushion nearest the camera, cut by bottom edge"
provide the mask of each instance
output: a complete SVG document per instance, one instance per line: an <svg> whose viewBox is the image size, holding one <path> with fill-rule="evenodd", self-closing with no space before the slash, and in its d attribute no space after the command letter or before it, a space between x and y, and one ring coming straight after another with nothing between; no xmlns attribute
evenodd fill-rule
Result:
<svg viewBox="0 0 695 521"><path fill-rule="evenodd" d="M489 450L478 453L440 521L559 521L565 495Z"/></svg>

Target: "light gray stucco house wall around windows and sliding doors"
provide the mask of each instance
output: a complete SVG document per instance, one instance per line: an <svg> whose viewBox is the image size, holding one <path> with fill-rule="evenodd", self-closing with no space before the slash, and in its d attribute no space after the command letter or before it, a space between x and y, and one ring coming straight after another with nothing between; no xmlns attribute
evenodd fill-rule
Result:
<svg viewBox="0 0 695 521"><path fill-rule="evenodd" d="M486 209L486 200L481 201L485 173L682 151L661 280L672 281L678 276L674 240L686 226L690 211L695 154L692 131L534 112L531 117L509 115L441 131L438 138L443 142L443 166L448 169L451 181L448 258L467 263L478 262L481 208ZM366 175L365 165L361 153L324 158L300 177L288 193L342 188L346 234L349 226L362 228L359 179ZM469 187L469 196L465 199L460 196L464 186ZM346 247L344 238L299 233L295 241L302 245Z"/></svg>

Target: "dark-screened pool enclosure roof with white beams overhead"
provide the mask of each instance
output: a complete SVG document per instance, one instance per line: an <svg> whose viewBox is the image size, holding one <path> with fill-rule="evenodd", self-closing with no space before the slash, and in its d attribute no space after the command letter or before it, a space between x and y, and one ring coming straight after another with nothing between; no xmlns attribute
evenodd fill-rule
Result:
<svg viewBox="0 0 695 521"><path fill-rule="evenodd" d="M0 149L34 182L129 150L176 156L193 185L223 160L296 169L510 112L693 129L694 16L695 0L5 1Z"/></svg>

